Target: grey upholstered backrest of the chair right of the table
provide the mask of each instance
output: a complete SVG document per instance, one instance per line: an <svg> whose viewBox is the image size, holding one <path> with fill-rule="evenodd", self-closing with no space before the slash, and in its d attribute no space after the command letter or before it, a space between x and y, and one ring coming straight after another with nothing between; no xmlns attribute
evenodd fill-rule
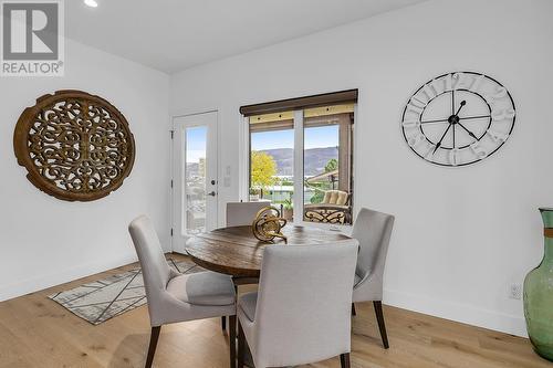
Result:
<svg viewBox="0 0 553 368"><path fill-rule="evenodd" d="M393 228L392 214L361 209L352 232L352 238L359 241L359 255L355 270L358 276L377 274L382 277Z"/></svg>

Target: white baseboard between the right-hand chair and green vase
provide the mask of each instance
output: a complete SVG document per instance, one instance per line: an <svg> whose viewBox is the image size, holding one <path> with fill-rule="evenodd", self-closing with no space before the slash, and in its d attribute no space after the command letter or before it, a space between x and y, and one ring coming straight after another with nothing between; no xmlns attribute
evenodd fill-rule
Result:
<svg viewBox="0 0 553 368"><path fill-rule="evenodd" d="M451 319L463 324L489 328L505 334L528 337L526 326L522 316L513 316L494 311L477 308L471 305L458 304L393 290L384 291L384 304L409 309L431 316Z"/></svg>

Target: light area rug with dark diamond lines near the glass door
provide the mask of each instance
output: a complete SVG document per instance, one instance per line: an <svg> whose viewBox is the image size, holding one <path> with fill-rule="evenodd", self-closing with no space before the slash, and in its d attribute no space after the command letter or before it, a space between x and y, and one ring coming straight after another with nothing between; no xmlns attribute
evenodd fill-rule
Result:
<svg viewBox="0 0 553 368"><path fill-rule="evenodd" d="M180 273L205 271L192 261L167 260ZM50 295L71 313L100 325L109 318L146 304L142 270L135 269L79 287Z"/></svg>

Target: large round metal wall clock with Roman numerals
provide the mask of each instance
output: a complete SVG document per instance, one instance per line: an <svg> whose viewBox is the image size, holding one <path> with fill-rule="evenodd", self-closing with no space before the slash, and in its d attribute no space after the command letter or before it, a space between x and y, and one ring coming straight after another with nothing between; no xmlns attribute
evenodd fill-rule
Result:
<svg viewBox="0 0 553 368"><path fill-rule="evenodd" d="M494 78L474 72L447 73L424 84L405 106L405 140L422 159L467 166L493 155L511 135L514 102Z"/></svg>

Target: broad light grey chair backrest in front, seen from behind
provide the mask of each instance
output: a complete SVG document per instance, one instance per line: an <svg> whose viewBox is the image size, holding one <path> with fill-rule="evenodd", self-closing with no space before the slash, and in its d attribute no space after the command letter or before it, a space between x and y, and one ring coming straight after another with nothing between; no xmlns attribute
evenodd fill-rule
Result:
<svg viewBox="0 0 553 368"><path fill-rule="evenodd" d="M354 239L264 249L254 320L254 354L262 367L295 366L349 351L357 250Z"/></svg>

